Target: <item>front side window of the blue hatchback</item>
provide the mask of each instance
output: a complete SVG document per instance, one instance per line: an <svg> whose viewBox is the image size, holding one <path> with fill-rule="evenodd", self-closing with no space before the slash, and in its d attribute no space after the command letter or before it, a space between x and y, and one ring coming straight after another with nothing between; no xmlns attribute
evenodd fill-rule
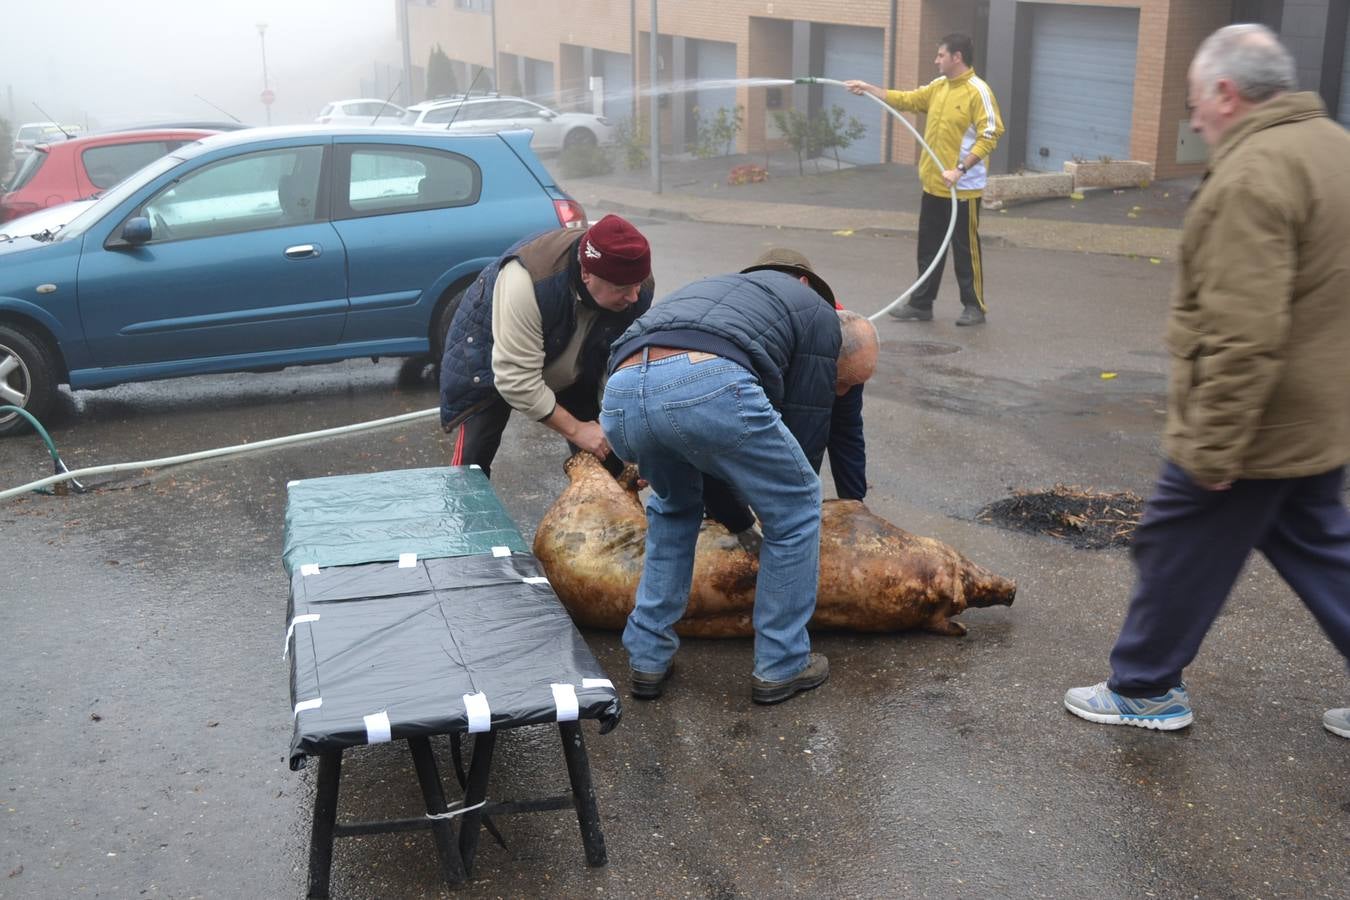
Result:
<svg viewBox="0 0 1350 900"><path fill-rule="evenodd" d="M151 240L211 237L315 221L323 158L323 147L288 147L198 169L143 206Z"/></svg>

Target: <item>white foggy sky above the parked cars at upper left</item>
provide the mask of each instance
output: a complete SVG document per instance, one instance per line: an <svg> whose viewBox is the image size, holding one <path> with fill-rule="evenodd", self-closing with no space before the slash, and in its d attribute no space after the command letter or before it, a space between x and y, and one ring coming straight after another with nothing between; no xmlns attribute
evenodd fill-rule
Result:
<svg viewBox="0 0 1350 900"><path fill-rule="evenodd" d="M258 23L267 23L273 124L359 97L378 66L398 80L394 0L3 0L0 116L94 128L223 120L201 94L265 123ZM11 93L12 89L12 108Z"/></svg>

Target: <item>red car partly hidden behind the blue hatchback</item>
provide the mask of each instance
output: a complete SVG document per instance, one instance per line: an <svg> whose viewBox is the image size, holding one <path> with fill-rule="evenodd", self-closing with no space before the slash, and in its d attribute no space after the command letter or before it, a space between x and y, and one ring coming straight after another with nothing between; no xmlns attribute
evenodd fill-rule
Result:
<svg viewBox="0 0 1350 900"><path fill-rule="evenodd" d="M92 197L159 157L213 134L207 128L119 131L38 144L14 179L0 188L5 192L0 193L0 223Z"/></svg>

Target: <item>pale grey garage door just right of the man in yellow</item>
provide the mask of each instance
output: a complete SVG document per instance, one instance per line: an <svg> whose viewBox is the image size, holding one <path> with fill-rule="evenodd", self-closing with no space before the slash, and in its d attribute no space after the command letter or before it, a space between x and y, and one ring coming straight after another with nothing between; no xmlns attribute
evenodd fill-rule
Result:
<svg viewBox="0 0 1350 900"><path fill-rule="evenodd" d="M1033 5L1026 167L1130 158L1138 9Z"/></svg>

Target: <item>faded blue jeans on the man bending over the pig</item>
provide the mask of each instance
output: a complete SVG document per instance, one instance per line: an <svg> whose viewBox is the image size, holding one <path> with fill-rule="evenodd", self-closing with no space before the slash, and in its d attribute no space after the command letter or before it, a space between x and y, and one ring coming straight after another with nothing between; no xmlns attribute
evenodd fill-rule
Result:
<svg viewBox="0 0 1350 900"><path fill-rule="evenodd" d="M759 381L725 359L687 355L616 371L599 413L605 440L652 486L647 559L624 629L629 664L663 672L679 648L703 518L703 474L736 487L764 532L755 586L755 676L783 681L806 668L815 613L821 482Z"/></svg>

